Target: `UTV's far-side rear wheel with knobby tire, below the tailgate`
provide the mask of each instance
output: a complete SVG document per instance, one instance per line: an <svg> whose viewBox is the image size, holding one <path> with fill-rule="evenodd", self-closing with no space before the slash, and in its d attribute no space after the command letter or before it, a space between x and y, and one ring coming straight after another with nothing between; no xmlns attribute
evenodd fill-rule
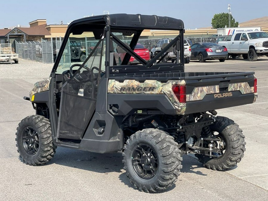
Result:
<svg viewBox="0 0 268 201"><path fill-rule="evenodd" d="M242 134L242 130L233 120L222 116L216 117L216 121L210 126L210 130L214 136L221 140L217 143L221 153L216 158L196 154L198 161L206 168L213 170L226 170L236 166L243 158L246 150L245 136Z"/></svg>

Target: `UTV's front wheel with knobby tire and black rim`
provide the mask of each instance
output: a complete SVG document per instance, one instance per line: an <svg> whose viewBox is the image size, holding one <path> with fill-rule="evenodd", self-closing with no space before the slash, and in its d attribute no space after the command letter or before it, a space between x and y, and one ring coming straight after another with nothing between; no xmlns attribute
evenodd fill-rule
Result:
<svg viewBox="0 0 268 201"><path fill-rule="evenodd" d="M56 146L52 143L50 122L40 115L21 120L15 140L20 157L29 165L43 165L49 162L56 152Z"/></svg>

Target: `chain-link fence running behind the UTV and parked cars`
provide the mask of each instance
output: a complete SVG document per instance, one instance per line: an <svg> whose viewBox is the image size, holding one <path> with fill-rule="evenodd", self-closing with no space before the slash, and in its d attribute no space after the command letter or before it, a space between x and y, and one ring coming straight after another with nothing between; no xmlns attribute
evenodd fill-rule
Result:
<svg viewBox="0 0 268 201"><path fill-rule="evenodd" d="M158 40L163 38L174 38L174 36L158 36L157 38L141 38L138 43L143 45L145 48L152 49L153 45L156 45ZM200 42L211 42L218 43L222 40L230 40L231 36L220 36L220 37L184 37L187 39L189 45ZM59 52L63 38L49 38L42 39L42 41L16 41L16 53L19 54L20 58L30 59L36 61L42 61L43 63L53 63ZM130 43L131 39L121 39L124 43ZM91 38L84 38L83 40L68 40L68 43L63 51L60 63L63 66L70 65L71 61L77 59L72 57L72 51L81 49L85 51L85 55L88 56L97 44L97 40ZM116 43L113 44L116 48ZM105 49L105 48L104 48ZM103 53L102 53L103 54ZM79 58L78 58L79 59Z"/></svg>

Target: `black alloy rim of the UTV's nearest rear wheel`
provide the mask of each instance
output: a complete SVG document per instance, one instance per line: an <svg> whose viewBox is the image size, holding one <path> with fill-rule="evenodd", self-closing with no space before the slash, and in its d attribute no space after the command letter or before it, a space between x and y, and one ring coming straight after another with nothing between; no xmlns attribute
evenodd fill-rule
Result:
<svg viewBox="0 0 268 201"><path fill-rule="evenodd" d="M157 156L148 144L140 144L132 155L132 165L136 174L142 179L151 179L158 170Z"/></svg>

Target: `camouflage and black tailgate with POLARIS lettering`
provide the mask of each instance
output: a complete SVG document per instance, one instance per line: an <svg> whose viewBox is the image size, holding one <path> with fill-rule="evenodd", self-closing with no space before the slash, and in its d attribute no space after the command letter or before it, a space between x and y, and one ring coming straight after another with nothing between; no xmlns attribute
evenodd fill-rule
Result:
<svg viewBox="0 0 268 201"><path fill-rule="evenodd" d="M251 104L255 79L254 72L188 77L185 114Z"/></svg>

